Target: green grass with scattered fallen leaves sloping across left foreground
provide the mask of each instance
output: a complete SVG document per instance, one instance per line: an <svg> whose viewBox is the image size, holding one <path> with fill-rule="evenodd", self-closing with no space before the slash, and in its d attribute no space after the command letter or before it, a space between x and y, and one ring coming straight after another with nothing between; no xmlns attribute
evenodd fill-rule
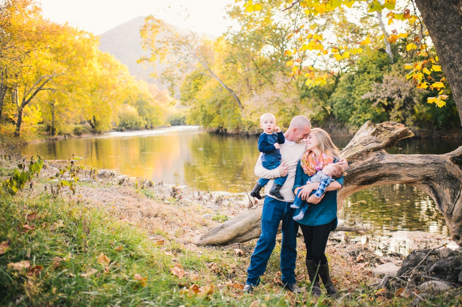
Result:
<svg viewBox="0 0 462 307"><path fill-rule="evenodd" d="M318 301L307 298L306 293L286 296L280 285L273 282L279 270L279 243L262 278L263 284L253 295L243 295L226 282L244 283L250 252L239 257L230 247L191 250L167 237L163 244L158 244L144 231L115 220L102 210L54 199L45 193L34 197L26 193L0 196L0 211L0 242L10 244L7 252L0 255L2 306L248 306L256 300L260 301L259 306L267 307L335 305L333 299L322 297ZM37 213L37 218L26 220L26 214L32 212ZM35 229L25 232L26 222ZM108 265L97 261L101 253L110 259ZM53 268L54 257L66 260ZM27 270L8 268L8 263L23 260L29 260L31 267L42 265L43 270L38 276L30 276ZM299 266L300 262L303 261L298 262ZM176 264L196 279L172 275L170 269ZM91 269L97 272L81 276ZM303 271L302 267L297 269ZM135 280L135 274L146 277L146 285ZM182 292L194 283L213 284L215 291L207 298L189 297ZM299 286L309 289L307 281L300 281ZM395 297L377 302L373 291L369 285L348 295L342 291L339 296L344 297L339 306L408 306L412 300ZM460 296L439 296L429 299L429 303L421 302L420 306L430 303L456 306Z"/></svg>

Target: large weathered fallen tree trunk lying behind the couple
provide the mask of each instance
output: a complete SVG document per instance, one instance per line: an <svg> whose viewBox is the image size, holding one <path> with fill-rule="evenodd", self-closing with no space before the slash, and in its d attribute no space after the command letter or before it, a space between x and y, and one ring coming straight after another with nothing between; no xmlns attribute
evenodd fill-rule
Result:
<svg viewBox="0 0 462 307"><path fill-rule="evenodd" d="M349 168L338 193L338 208L349 195L373 186L405 183L432 197L445 216L452 239L462 245L462 147L444 155L390 155L385 149L414 134L396 122L362 126L340 155ZM204 234L197 244L225 245L257 238L262 206Z"/></svg>

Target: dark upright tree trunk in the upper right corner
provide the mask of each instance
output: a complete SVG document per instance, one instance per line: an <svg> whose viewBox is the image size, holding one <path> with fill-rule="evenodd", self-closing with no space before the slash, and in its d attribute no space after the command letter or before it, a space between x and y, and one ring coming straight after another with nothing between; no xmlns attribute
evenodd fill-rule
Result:
<svg viewBox="0 0 462 307"><path fill-rule="evenodd" d="M451 86L462 124L462 1L415 0Z"/></svg>

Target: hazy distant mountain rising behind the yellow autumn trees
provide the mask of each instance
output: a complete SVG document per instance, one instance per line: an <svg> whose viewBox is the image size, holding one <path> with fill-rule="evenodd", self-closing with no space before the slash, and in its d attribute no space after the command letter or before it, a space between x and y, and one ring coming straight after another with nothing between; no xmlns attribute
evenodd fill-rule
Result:
<svg viewBox="0 0 462 307"><path fill-rule="evenodd" d="M149 55L149 53L143 51L141 47L140 29L144 24L145 18L145 16L136 17L129 22L101 34L100 50L109 52L118 58L122 64L128 67L131 75L138 79L145 80L147 83L155 83L160 89L165 89L166 85L161 84L160 80L150 76L150 74L155 71L155 68L146 66L146 69L144 69L143 64L137 63L139 58ZM180 27L175 28L180 33L188 31ZM213 35L207 36L216 38Z"/></svg>

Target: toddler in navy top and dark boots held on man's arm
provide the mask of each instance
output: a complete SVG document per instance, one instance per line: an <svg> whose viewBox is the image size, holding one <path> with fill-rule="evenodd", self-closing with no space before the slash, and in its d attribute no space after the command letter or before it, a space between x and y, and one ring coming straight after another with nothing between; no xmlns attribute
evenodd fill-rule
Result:
<svg viewBox="0 0 462 307"><path fill-rule="evenodd" d="M281 164L281 152L279 151L279 144L284 144L285 137L279 127L276 127L276 117L271 113L263 114L260 117L260 128L263 133L260 134L258 139L258 150L262 153L261 163L267 170L274 170ZM287 175L279 177L274 180L273 187L269 190L269 195L276 198L284 199L279 193L282 185L284 185ZM251 192L252 197L261 199L260 190L263 188L269 179L260 178L254 190Z"/></svg>

